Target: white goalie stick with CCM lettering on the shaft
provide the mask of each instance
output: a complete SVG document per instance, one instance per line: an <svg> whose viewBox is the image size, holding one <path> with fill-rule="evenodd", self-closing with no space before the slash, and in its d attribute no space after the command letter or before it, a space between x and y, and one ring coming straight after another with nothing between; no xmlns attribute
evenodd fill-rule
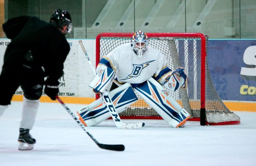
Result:
<svg viewBox="0 0 256 166"><path fill-rule="evenodd" d="M79 44L81 45L81 48L83 49L83 52L85 53L85 56L88 60L88 63L90 64L91 66L91 69L94 73L94 75L96 76L96 71L95 69L93 68L92 66L92 62L83 46L83 43L81 40L78 41ZM133 128L141 128L141 127L144 127L145 123L124 123L121 121L121 118L119 117L118 113L116 112L116 109L115 109L115 106L111 100L111 97L109 97L108 95L108 92L105 90L103 93L102 93L102 96L104 98L104 101L108 107L108 110L111 114L111 117L113 118L114 122L115 122L115 125L116 127L120 128L120 129L133 129Z"/></svg>

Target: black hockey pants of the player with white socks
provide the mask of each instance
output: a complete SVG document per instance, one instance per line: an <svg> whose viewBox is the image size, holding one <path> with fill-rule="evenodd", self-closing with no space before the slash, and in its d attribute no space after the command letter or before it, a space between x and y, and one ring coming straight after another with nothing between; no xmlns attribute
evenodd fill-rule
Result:
<svg viewBox="0 0 256 166"><path fill-rule="evenodd" d="M42 96L44 77L23 65L4 65L0 75L0 105L8 105L15 91L21 86L29 100Z"/></svg>

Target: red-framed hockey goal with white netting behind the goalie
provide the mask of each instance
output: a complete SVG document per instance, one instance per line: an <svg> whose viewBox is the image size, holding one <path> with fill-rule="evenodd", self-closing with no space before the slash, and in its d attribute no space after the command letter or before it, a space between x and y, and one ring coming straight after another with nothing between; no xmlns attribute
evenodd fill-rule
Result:
<svg viewBox="0 0 256 166"><path fill-rule="evenodd" d="M96 66L102 56L117 46L130 43L133 33L101 33L96 37ZM147 33L149 45L165 55L168 67L184 67L188 88L169 94L201 125L239 124L240 118L220 99L213 86L207 62L208 36L200 33ZM121 118L161 119L157 112L137 94L138 101L119 115ZM99 96L96 96L96 99Z"/></svg>

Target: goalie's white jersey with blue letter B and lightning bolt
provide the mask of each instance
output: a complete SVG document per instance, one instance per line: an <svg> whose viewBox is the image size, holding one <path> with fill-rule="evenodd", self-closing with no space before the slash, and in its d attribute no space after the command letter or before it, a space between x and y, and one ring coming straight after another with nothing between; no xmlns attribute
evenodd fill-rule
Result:
<svg viewBox="0 0 256 166"><path fill-rule="evenodd" d="M115 70L116 79L114 82L119 84L128 82L132 86L143 83L150 77L163 85L168 81L165 78L170 76L172 72L161 52L148 46L144 55L138 58L132 50L131 44L118 46L113 52L103 56L97 69L101 65Z"/></svg>

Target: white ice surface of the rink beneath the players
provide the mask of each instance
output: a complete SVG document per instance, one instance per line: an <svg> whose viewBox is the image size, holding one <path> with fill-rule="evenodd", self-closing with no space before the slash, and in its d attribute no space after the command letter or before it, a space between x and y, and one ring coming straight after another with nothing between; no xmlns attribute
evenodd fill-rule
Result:
<svg viewBox="0 0 256 166"><path fill-rule="evenodd" d="M73 113L85 105L66 104ZM187 122L171 128L163 120L141 129L118 129L107 120L88 131L100 143L123 144L125 151L100 149L59 103L40 103L30 134L31 151L18 150L22 102L0 117L0 166L254 166L256 113L235 112L239 125L200 126Z"/></svg>

